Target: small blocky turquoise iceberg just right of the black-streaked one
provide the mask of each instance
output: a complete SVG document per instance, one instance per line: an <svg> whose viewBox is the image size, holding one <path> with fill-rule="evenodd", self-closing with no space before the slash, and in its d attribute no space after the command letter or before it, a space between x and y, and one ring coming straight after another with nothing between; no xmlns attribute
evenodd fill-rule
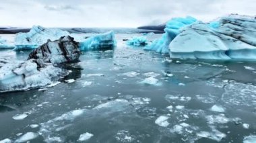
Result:
<svg viewBox="0 0 256 143"><path fill-rule="evenodd" d="M84 41L79 41L80 50L108 50L115 48L117 42L114 32L106 32L87 38Z"/></svg>

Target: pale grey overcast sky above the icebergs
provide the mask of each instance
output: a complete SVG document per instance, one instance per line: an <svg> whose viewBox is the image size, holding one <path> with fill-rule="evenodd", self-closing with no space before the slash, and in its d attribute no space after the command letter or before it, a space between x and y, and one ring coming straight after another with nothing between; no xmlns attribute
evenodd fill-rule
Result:
<svg viewBox="0 0 256 143"><path fill-rule="evenodd" d="M0 0L0 26L129 27L191 15L256 15L255 0Z"/></svg>

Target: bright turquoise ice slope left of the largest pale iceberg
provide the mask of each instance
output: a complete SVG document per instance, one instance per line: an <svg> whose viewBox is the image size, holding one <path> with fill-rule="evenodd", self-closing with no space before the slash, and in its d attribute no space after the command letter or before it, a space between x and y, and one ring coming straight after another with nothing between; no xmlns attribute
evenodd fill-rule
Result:
<svg viewBox="0 0 256 143"><path fill-rule="evenodd" d="M166 23L166 28L164 29L165 33L162 35L162 38L155 40L152 44L146 46L144 50L154 50L160 53L168 53L168 46L170 42L177 36L177 34L179 34L183 28L190 26L196 21L197 19L190 16L185 18L177 17L170 19L170 21Z"/></svg>

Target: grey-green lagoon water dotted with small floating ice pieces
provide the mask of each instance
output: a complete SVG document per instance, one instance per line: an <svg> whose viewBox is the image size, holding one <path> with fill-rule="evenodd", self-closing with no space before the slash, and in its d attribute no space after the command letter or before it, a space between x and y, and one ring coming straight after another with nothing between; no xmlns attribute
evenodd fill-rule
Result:
<svg viewBox="0 0 256 143"><path fill-rule="evenodd" d="M132 36L141 34L84 52L55 86L0 93L0 140L255 142L255 61L170 59L127 46ZM0 50L20 60L28 53Z"/></svg>

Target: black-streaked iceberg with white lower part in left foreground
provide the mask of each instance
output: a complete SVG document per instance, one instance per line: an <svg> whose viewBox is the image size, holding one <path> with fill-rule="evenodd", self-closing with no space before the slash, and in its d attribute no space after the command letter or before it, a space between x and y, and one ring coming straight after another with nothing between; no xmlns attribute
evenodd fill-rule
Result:
<svg viewBox="0 0 256 143"><path fill-rule="evenodd" d="M0 92L49 85L61 75L67 75L57 64L77 60L79 55L77 42L65 36L36 48L26 61L0 58Z"/></svg>

